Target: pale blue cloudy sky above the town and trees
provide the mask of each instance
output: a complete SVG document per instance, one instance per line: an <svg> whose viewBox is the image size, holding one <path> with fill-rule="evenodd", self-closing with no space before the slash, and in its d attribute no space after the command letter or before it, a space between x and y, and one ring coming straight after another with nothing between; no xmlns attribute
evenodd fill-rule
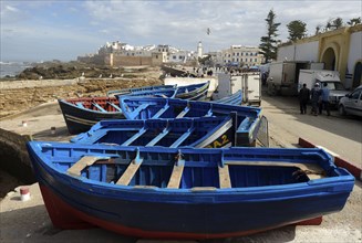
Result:
<svg viewBox="0 0 362 243"><path fill-rule="evenodd" d="M286 25L293 20L307 23L312 35L333 18L345 23L361 17L361 0L0 0L0 61L71 61L114 41L188 51L201 41L205 52L232 44L258 46L270 10L285 42Z"/></svg>

